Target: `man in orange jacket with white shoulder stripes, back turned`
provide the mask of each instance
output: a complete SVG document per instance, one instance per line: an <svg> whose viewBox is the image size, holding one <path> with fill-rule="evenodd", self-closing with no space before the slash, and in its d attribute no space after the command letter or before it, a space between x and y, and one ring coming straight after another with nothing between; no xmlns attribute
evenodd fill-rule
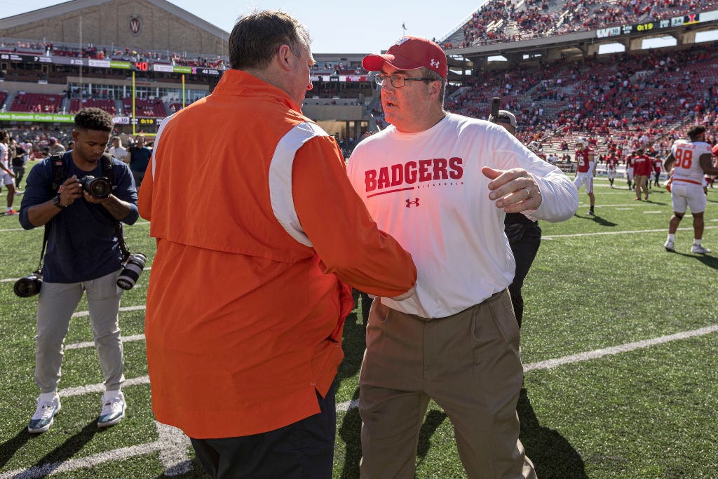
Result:
<svg viewBox="0 0 718 479"><path fill-rule="evenodd" d="M162 124L141 188L157 238L153 410L214 478L330 478L350 287L404 299L416 267L370 218L335 139L300 112L314 64L302 24L250 14L229 51L213 93ZM207 144L219 161L198 170ZM197 175L205 187L188 187Z"/></svg>

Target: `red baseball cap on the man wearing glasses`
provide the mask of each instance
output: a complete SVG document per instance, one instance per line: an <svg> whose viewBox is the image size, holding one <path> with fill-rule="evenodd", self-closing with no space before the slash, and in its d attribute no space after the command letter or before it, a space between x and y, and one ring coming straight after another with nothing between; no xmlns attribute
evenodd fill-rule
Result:
<svg viewBox="0 0 718 479"><path fill-rule="evenodd" d="M367 55L361 62L364 70L376 72L384 63L398 70L426 67L447 79L447 55L436 43L420 37L401 37L383 55Z"/></svg>

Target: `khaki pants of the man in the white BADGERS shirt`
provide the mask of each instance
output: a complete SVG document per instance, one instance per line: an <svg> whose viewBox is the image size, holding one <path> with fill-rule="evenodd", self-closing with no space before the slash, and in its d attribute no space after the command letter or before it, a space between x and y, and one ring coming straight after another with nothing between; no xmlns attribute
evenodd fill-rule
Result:
<svg viewBox="0 0 718 479"><path fill-rule="evenodd" d="M444 318L375 301L360 373L361 477L414 478L429 399L444 409L469 478L536 478L518 440L523 381L508 292Z"/></svg>

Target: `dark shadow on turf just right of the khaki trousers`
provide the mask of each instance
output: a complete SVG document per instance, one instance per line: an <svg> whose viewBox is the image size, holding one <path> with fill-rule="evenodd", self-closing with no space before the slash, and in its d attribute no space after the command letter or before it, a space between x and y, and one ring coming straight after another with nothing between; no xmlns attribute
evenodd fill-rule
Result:
<svg viewBox="0 0 718 479"><path fill-rule="evenodd" d="M539 424L524 388L521 388L516 409L521 421L519 438L539 478L588 479L581 456L566 438Z"/></svg>

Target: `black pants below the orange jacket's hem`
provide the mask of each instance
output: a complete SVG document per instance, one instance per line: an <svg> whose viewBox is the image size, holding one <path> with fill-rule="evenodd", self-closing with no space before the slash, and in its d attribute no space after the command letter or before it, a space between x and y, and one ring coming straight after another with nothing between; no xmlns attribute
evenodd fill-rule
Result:
<svg viewBox="0 0 718 479"><path fill-rule="evenodd" d="M213 479L329 479L334 465L337 412L334 386L322 411L274 431L242 437L194 439L197 459ZM228 408L228 421L233 417Z"/></svg>

